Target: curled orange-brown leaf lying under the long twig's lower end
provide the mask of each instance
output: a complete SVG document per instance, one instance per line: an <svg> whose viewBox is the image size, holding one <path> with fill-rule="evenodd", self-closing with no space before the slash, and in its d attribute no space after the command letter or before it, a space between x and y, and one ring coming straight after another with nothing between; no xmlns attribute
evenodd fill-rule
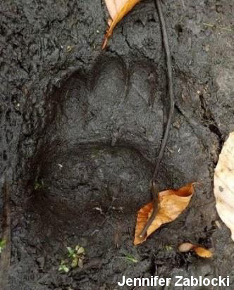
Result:
<svg viewBox="0 0 234 290"><path fill-rule="evenodd" d="M141 244L149 237L150 234L159 229L161 225L172 222L182 213L190 203L192 194L194 193L194 184L187 184L178 190L168 189L159 193L159 211L154 218L152 225L147 229L145 237L140 237L142 229L147 224L147 220L152 215L153 203L147 203L140 208L137 213L137 222L135 228L135 239L133 244Z"/></svg>

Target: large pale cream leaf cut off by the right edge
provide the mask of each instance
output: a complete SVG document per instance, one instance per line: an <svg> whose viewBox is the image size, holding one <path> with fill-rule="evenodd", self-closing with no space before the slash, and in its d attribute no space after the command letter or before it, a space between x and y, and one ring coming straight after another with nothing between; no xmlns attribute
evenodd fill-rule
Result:
<svg viewBox="0 0 234 290"><path fill-rule="evenodd" d="M234 241L234 132L224 143L214 170L214 196L218 215Z"/></svg>

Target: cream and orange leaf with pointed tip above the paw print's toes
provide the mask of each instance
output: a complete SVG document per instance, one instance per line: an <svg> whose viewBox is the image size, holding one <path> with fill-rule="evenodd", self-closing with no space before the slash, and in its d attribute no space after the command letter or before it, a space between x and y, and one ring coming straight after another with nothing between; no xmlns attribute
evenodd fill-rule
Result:
<svg viewBox="0 0 234 290"><path fill-rule="evenodd" d="M106 31L104 42L101 46L102 49L106 47L107 41L113 32L116 24L123 19L123 17L130 12L133 7L140 2L140 0L105 0L106 7L111 16L109 20L109 29Z"/></svg>

